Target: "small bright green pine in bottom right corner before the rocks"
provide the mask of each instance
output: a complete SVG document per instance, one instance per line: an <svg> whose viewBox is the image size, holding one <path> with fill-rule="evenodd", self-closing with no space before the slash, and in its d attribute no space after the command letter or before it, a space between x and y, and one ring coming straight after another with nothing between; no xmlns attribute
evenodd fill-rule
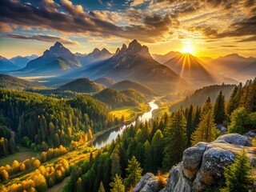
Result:
<svg viewBox="0 0 256 192"><path fill-rule="evenodd" d="M250 162L246 155L246 150L242 150L237 154L234 163L228 168L224 168L224 176L226 178L226 188L223 191L247 192L250 189Z"/></svg>

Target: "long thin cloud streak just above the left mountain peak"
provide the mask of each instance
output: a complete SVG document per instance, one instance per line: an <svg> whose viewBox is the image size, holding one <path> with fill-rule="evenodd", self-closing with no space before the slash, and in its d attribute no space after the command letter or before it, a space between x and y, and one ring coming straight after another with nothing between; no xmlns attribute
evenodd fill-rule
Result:
<svg viewBox="0 0 256 192"><path fill-rule="evenodd" d="M18 38L18 39L33 39L40 42L62 42L70 46L79 46L78 42L72 41L67 38L61 38L49 34L34 34L34 35L21 35L21 34L0 34L2 38Z"/></svg>

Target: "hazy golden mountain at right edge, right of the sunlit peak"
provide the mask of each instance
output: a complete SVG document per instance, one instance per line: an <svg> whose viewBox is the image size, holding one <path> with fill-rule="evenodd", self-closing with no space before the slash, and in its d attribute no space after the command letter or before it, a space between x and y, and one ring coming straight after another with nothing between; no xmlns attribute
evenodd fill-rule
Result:
<svg viewBox="0 0 256 192"><path fill-rule="evenodd" d="M251 63L255 63L256 58L244 58L239 54L228 54L224 57L219 57L211 62L209 62L209 66L213 66L214 70L217 71L218 74L223 74L226 76L233 76L237 78L239 81L245 81L248 78L254 78L253 76L246 74L247 70L246 66ZM252 70L255 70L256 66L252 65L249 67Z"/></svg>

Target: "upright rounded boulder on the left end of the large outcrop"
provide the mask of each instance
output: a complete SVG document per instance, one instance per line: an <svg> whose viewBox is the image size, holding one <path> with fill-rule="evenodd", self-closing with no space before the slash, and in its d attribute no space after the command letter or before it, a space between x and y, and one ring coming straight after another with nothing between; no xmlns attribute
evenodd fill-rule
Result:
<svg viewBox="0 0 256 192"><path fill-rule="evenodd" d="M202 162L202 155L206 150L206 142L198 142L193 147L188 148L183 153L183 173L187 178L194 178L197 174L201 162Z"/></svg>

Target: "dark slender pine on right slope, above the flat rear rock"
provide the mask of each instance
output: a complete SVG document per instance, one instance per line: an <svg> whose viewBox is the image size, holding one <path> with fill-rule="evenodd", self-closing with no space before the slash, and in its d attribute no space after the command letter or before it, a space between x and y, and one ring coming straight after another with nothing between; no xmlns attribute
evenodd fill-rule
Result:
<svg viewBox="0 0 256 192"><path fill-rule="evenodd" d="M214 104L214 120L217 125L222 124L226 119L225 113L225 96L222 94L222 90L219 92L216 102Z"/></svg>

